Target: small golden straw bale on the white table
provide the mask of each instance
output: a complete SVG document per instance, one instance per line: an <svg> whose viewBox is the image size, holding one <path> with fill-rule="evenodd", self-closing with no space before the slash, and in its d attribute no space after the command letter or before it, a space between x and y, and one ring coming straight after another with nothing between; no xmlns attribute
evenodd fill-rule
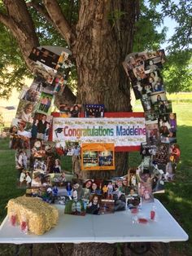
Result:
<svg viewBox="0 0 192 256"><path fill-rule="evenodd" d="M19 224L25 218L28 231L36 235L42 235L51 227L55 227L59 219L59 211L54 206L35 197L20 196L11 199L7 208L9 217L14 213Z"/></svg>

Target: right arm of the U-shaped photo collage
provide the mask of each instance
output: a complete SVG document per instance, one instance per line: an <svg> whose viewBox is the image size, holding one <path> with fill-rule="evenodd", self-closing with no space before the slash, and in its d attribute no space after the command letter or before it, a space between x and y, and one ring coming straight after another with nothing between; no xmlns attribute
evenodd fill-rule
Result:
<svg viewBox="0 0 192 256"><path fill-rule="evenodd" d="M177 114L172 112L161 75L164 62L164 50L159 50L130 54L123 63L135 98L141 100L145 112L146 143L141 145L142 164L138 170L148 172L156 183L151 182L152 192L163 190L164 182L174 179L181 154L177 144Z"/></svg>

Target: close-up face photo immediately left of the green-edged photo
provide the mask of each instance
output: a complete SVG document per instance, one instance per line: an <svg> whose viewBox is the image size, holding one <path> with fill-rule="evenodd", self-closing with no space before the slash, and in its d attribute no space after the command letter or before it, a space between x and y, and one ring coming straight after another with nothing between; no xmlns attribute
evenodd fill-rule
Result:
<svg viewBox="0 0 192 256"><path fill-rule="evenodd" d="M16 118L23 121L33 123L33 115L35 112L36 103L20 99L20 104L18 105Z"/></svg>

